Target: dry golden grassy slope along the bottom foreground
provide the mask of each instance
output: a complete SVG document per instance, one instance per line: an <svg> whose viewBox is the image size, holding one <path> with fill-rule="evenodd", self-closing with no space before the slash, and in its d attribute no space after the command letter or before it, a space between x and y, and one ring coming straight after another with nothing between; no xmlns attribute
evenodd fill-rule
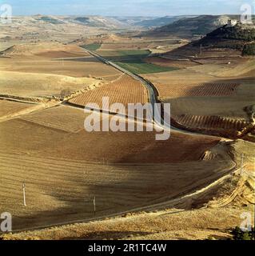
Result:
<svg viewBox="0 0 255 256"><path fill-rule="evenodd" d="M58 226L41 226L35 230L5 234L2 239L229 239L229 230L240 225L245 211L254 215L253 193L255 177L249 171L254 161L247 142L227 142L235 161L240 150L245 150L245 171L240 165L233 173L225 174L194 193L169 202L140 207L104 218L91 218ZM249 144L249 142L248 142ZM221 145L221 150L222 150ZM235 150L236 151L235 151ZM213 152L210 152L213 154ZM208 158L207 154L205 158ZM249 185L250 184L250 185ZM247 201L248 200L248 201ZM194 205L194 202L196 205ZM199 209L197 209L199 208ZM208 222L208 220L210 220ZM224 221L223 221L224 220ZM254 223L253 223L254 225Z"/></svg>

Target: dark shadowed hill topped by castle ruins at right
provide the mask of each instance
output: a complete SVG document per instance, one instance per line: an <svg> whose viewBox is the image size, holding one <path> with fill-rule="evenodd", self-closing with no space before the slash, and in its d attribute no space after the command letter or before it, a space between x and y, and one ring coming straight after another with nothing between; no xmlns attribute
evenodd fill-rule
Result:
<svg viewBox="0 0 255 256"><path fill-rule="evenodd" d="M166 54L165 58L222 58L255 55L255 26L238 23L221 26L205 37Z"/></svg>

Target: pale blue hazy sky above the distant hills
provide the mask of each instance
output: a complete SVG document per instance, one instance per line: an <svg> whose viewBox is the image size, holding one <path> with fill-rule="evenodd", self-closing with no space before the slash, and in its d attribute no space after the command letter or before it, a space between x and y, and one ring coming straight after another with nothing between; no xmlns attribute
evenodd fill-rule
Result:
<svg viewBox="0 0 255 256"><path fill-rule="evenodd" d="M75 14L165 16L181 14L240 14L241 5L255 0L0 0L14 15Z"/></svg>

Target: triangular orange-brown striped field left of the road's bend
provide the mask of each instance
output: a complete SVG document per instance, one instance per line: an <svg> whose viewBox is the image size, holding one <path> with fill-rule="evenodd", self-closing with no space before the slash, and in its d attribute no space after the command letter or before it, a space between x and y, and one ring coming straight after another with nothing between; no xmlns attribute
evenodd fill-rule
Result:
<svg viewBox="0 0 255 256"><path fill-rule="evenodd" d="M114 82L72 98L69 102L78 106L86 106L88 103L94 102L100 109L106 110L105 106L102 106L103 97L109 97L110 104L122 103L126 107L128 103L145 104L148 102L145 86L126 74Z"/></svg>

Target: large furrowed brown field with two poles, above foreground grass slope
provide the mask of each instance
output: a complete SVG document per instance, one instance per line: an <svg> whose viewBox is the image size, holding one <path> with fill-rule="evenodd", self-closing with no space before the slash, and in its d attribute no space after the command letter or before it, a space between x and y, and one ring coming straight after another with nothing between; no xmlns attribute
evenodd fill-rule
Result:
<svg viewBox="0 0 255 256"><path fill-rule="evenodd" d="M1 152L0 158L0 210L13 214L14 230L94 218L94 196L98 217L165 202L202 188L233 167L226 160L161 166L91 165L20 152ZM22 206L24 181L26 207Z"/></svg>

